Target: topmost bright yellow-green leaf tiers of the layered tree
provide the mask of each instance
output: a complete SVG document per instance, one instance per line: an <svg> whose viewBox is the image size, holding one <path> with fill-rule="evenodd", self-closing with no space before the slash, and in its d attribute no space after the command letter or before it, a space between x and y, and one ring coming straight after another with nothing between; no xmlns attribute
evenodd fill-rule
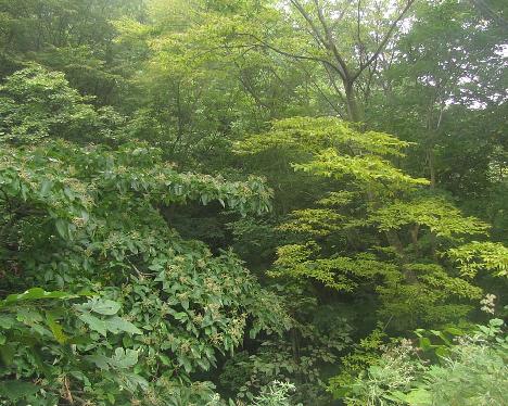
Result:
<svg viewBox="0 0 508 406"><path fill-rule="evenodd" d="M274 123L266 134L249 137L237 144L241 154L270 149L288 151L292 166L316 176L352 179L363 189L383 193L428 185L395 167L390 156L403 156L408 142L374 131L361 132L334 117L295 117Z"/></svg>

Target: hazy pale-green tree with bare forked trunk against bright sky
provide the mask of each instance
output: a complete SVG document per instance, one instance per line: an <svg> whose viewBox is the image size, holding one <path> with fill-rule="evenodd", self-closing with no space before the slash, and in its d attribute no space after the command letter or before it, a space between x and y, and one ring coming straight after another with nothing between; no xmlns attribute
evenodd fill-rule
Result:
<svg viewBox="0 0 508 406"><path fill-rule="evenodd" d="M238 25L228 38L233 47L261 47L299 63L320 65L334 98L346 106L346 117L360 122L358 93L370 93L379 60L412 3L290 0L280 7L266 5L266 14L261 14L265 22Z"/></svg>

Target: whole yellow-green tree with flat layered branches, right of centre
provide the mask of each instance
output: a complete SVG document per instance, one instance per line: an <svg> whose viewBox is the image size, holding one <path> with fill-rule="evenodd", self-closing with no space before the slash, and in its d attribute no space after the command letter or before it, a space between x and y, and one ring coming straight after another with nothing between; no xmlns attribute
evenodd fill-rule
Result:
<svg viewBox="0 0 508 406"><path fill-rule="evenodd" d="M239 147L244 152L301 151L294 156L303 161L292 164L296 170L340 181L339 190L316 202L320 207L294 211L280 227L297 237L278 249L272 275L356 294L372 289L382 301L381 319L396 330L463 317L471 307L462 301L479 300L481 289L439 261L435 241L447 249L465 236L484 234L487 225L426 195L426 179L394 167L390 157L403 156L407 147L333 118L282 120L246 139Z"/></svg>

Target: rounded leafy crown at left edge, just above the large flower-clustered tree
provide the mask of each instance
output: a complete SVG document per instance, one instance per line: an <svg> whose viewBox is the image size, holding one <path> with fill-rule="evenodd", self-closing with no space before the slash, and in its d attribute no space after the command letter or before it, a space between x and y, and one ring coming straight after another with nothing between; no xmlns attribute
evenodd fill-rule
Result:
<svg viewBox="0 0 508 406"><path fill-rule="evenodd" d="M114 141L123 117L113 109L96 109L91 99L68 86L65 76L31 65L0 86L0 141L17 144L49 137Z"/></svg>

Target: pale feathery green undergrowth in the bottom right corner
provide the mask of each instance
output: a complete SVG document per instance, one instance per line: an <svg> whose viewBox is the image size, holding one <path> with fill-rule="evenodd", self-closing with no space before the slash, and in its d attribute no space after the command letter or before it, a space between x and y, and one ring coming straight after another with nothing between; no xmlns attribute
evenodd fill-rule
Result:
<svg viewBox="0 0 508 406"><path fill-rule="evenodd" d="M427 332L440 344L432 344L426 332L418 330L421 348L415 348L409 340L392 345L373 366L348 382L339 397L347 394L351 405L506 403L507 338L503 320L493 319L469 334L459 332L462 337L458 342L452 341L457 334L454 330ZM433 350L436 357L424 359L420 350L427 354Z"/></svg>

